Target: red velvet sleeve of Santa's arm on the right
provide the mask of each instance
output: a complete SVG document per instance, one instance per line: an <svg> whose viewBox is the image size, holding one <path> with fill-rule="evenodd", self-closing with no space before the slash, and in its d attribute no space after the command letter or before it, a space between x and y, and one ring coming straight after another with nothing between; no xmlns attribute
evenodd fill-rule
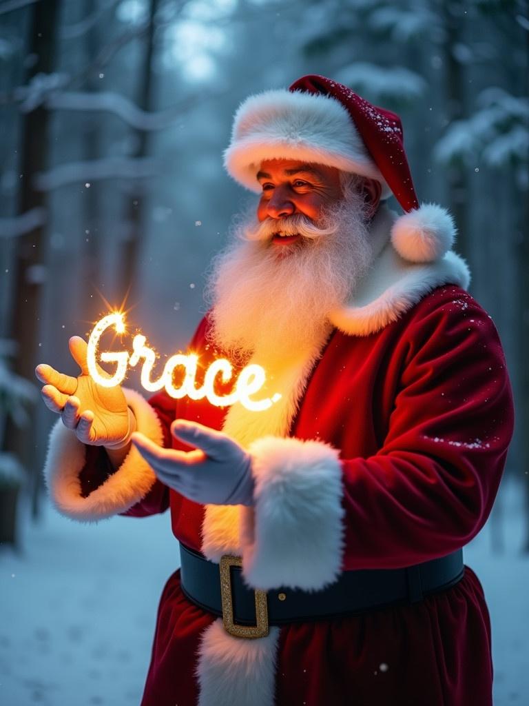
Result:
<svg viewBox="0 0 529 706"><path fill-rule="evenodd" d="M490 316L424 301L382 448L342 460L343 567L396 568L449 554L484 525L513 433L504 354Z"/></svg>

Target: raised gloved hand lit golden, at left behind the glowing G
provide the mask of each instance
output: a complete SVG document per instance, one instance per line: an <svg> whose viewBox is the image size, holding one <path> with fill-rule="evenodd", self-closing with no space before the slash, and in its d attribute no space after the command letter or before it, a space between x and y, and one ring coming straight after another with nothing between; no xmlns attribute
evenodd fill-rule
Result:
<svg viewBox="0 0 529 706"><path fill-rule="evenodd" d="M123 390L119 385L105 388L92 379L86 362L85 340L73 336L69 347L81 369L77 378L59 373L46 364L37 365L35 369L39 381L46 383L41 390L44 404L51 412L61 414L64 426L75 431L79 441L112 450L125 447L136 426Z"/></svg>

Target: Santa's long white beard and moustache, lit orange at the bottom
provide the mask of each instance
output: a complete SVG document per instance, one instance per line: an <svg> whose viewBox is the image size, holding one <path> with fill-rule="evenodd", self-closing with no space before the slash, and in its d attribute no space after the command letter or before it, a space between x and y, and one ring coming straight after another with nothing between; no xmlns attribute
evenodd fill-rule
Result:
<svg viewBox="0 0 529 706"><path fill-rule="evenodd" d="M348 189L316 224L303 217L239 223L209 277L214 342L232 357L256 352L274 361L317 340L372 261L364 210ZM302 237L276 246L271 237L281 230Z"/></svg>

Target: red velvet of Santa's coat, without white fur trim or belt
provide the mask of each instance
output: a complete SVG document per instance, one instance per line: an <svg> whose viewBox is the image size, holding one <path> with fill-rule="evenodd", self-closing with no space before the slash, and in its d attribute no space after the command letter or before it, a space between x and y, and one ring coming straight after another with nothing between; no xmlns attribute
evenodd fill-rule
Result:
<svg viewBox="0 0 529 706"><path fill-rule="evenodd" d="M202 322L193 349L202 350L204 331ZM164 394L150 402L167 445L176 414L221 428L219 407L175 405ZM334 330L291 433L341 450L343 568L408 566L469 542L490 513L512 424L497 333L462 290L436 289L377 335ZM159 482L130 514L168 504L176 538L200 551L202 506ZM197 638L212 620L183 597L174 573L144 706L197 702ZM468 567L456 587L419 605L281 628L278 705L486 706L491 687L489 616Z"/></svg>

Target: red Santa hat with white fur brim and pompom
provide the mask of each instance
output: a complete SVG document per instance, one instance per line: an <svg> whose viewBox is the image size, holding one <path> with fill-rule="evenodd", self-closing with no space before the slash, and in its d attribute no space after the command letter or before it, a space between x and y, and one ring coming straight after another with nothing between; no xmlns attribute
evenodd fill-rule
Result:
<svg viewBox="0 0 529 706"><path fill-rule="evenodd" d="M288 90L248 97L233 121L224 165L233 179L259 192L263 160L303 160L377 179L382 198L393 194L406 212L391 229L394 248L408 261L430 262L451 248L456 227L434 203L419 205L403 145L401 119L347 86L303 76Z"/></svg>

